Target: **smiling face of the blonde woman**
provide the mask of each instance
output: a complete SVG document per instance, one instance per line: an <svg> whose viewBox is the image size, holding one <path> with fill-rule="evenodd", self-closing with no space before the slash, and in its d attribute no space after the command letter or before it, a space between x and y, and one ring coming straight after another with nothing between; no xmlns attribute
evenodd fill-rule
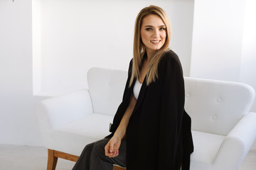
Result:
<svg viewBox="0 0 256 170"><path fill-rule="evenodd" d="M141 28L142 42L146 47L147 55L159 50L166 41L166 25L157 15L145 16Z"/></svg>

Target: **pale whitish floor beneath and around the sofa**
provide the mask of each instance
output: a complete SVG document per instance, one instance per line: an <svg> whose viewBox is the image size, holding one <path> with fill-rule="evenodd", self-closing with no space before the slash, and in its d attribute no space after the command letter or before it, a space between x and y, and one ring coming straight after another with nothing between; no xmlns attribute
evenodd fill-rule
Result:
<svg viewBox="0 0 256 170"><path fill-rule="evenodd" d="M0 145L0 170L46 170L47 149L16 145ZM59 159L56 170L70 170L74 162ZM239 170L256 169L256 150L251 150Z"/></svg>

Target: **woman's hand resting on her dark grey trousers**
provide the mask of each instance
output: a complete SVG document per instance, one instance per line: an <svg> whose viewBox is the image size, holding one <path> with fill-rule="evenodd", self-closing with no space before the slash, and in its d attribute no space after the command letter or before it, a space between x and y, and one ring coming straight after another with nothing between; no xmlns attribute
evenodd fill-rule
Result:
<svg viewBox="0 0 256 170"><path fill-rule="evenodd" d="M107 142L107 145L105 146L105 155L107 157L117 157L119 154L119 147L121 145L121 139L120 137L117 137L114 135L109 142Z"/></svg>

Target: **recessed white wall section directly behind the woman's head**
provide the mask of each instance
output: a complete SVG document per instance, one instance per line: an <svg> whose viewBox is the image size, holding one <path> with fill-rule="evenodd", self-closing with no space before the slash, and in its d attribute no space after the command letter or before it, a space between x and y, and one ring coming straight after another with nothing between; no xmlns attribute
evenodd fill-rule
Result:
<svg viewBox="0 0 256 170"><path fill-rule="evenodd" d="M90 67L128 69L137 13L151 4L161 6L169 14L171 47L180 56L188 76L193 1L44 0L41 16L35 20L41 21L41 66L36 67L41 67L41 73L34 73L41 79L35 81L34 94L55 96L83 89L87 87Z"/></svg>

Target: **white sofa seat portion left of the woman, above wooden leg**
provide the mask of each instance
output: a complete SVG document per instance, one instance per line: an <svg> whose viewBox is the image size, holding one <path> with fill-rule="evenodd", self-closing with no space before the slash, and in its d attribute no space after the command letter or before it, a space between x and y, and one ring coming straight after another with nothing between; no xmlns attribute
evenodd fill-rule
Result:
<svg viewBox="0 0 256 170"><path fill-rule="evenodd" d="M80 155L85 145L110 135L111 115L92 113L79 120L54 128L49 134L46 146L60 152Z"/></svg>

